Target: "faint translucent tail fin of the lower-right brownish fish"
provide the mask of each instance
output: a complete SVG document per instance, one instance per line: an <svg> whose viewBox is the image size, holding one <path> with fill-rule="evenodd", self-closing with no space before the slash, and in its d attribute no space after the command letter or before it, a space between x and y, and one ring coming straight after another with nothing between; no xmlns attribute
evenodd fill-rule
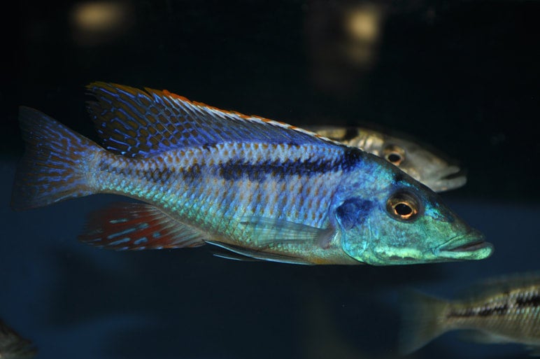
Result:
<svg viewBox="0 0 540 359"><path fill-rule="evenodd" d="M402 293L402 328L399 351L409 354L425 346L447 328L442 317L448 302L408 290Z"/></svg>

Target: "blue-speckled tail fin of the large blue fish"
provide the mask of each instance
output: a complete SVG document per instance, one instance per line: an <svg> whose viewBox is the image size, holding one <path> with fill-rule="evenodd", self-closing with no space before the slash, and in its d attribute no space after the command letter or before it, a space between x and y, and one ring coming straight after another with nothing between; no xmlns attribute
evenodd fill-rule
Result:
<svg viewBox="0 0 540 359"><path fill-rule="evenodd" d="M21 106L19 121L26 150L15 174L13 209L94 193L85 178L85 166L92 153L101 149L96 143L33 108Z"/></svg>

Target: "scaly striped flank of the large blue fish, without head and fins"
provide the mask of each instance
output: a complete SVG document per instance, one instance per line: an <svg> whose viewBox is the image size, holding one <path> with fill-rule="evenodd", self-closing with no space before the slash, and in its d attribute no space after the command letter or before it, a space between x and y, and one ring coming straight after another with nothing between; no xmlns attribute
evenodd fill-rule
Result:
<svg viewBox="0 0 540 359"><path fill-rule="evenodd" d="M313 145L267 143L185 148L148 159L102 151L90 167L94 169L92 183L97 192L127 195L159 206L182 223L204 228L201 236L257 249L267 244L259 241L255 227L242 225L245 218L276 218L309 227L329 227L332 194L343 170L351 169L343 168L347 165L342 163L343 148L329 151L328 162L322 166L309 160L317 151L320 148ZM239 158L243 159L241 165ZM289 168L283 165L287 162ZM355 263L343 257L336 241L325 248L285 241L266 249L294 253L315 263Z"/></svg>

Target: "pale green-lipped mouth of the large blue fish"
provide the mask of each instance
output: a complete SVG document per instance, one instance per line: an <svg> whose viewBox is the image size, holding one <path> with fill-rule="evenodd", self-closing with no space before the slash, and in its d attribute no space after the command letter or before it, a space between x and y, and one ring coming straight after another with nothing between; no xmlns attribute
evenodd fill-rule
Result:
<svg viewBox="0 0 540 359"><path fill-rule="evenodd" d="M493 253L493 245L484 240L483 234L472 230L462 236L454 237L436 248L439 257L453 260L481 260Z"/></svg>

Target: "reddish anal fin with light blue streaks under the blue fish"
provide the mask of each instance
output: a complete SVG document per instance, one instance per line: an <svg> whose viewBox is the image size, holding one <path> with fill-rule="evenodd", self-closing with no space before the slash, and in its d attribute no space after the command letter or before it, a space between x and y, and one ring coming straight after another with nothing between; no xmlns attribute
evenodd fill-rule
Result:
<svg viewBox="0 0 540 359"><path fill-rule="evenodd" d="M92 213L79 240L116 251L204 245L200 233L143 203L115 203Z"/></svg>

